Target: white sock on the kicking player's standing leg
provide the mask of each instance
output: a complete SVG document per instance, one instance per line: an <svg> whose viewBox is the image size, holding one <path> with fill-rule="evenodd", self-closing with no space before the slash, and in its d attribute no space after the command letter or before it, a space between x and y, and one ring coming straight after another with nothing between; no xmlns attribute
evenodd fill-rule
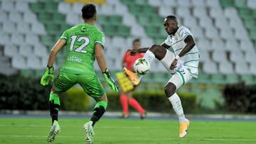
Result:
<svg viewBox="0 0 256 144"><path fill-rule="evenodd" d="M176 115L178 116L178 121L180 123L186 122L186 118L185 118L185 115L183 113L183 109L181 106L181 99L178 97L178 94L174 93L174 95L172 95L168 99L169 99L169 101L171 101L171 105L173 106L174 111L175 111Z"/></svg>

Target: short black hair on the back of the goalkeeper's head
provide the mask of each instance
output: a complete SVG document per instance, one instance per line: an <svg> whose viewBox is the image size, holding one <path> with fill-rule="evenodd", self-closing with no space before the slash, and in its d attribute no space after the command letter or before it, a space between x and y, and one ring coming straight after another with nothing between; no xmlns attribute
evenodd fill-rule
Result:
<svg viewBox="0 0 256 144"><path fill-rule="evenodd" d="M85 6L82 6L81 11L83 19L91 19L97 13L96 6L94 4L85 4Z"/></svg>

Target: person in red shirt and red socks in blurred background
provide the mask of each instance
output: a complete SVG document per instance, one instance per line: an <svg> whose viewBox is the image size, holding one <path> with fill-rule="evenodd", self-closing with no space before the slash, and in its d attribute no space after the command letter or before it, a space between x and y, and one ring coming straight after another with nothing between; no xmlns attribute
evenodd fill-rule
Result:
<svg viewBox="0 0 256 144"><path fill-rule="evenodd" d="M136 50L137 48L140 47L140 40L139 39L135 39L132 42L132 47L134 50ZM144 55L142 53L138 53L137 55L128 55L127 52L124 53L124 57L122 59L122 67L127 67L128 70L130 71L134 71L133 70L133 65L134 62L138 59L138 58L142 58ZM132 89L133 91L134 89ZM136 109L137 111L139 111L140 114L140 118L144 119L146 114L145 114L145 110L142 108L142 106L139 104L139 102L132 98L132 91L129 92L124 92L123 90L120 91L120 101L122 104L122 118L128 118L129 117L129 109L128 109L128 104L132 107L134 107L134 109Z"/></svg>

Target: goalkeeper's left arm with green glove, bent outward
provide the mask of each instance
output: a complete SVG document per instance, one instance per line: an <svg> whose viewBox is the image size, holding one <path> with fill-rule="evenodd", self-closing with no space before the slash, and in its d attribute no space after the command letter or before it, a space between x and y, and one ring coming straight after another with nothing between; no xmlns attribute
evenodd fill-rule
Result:
<svg viewBox="0 0 256 144"><path fill-rule="evenodd" d="M60 39L53 46L53 49L50 51L47 69L46 69L46 72L43 74L43 76L41 78L41 82L40 82L43 86L46 86L49 84L49 82L53 81L53 63L55 62L55 58L56 58L58 51L60 51L64 47L65 44L66 44L66 40Z"/></svg>

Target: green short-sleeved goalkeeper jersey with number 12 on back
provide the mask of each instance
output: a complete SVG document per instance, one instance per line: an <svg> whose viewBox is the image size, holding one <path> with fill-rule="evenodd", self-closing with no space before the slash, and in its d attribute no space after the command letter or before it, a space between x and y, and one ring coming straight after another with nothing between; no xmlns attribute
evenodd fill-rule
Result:
<svg viewBox="0 0 256 144"><path fill-rule="evenodd" d="M60 39L67 41L65 62L60 72L95 74L95 45L104 47L104 34L95 26L82 23L64 31Z"/></svg>

